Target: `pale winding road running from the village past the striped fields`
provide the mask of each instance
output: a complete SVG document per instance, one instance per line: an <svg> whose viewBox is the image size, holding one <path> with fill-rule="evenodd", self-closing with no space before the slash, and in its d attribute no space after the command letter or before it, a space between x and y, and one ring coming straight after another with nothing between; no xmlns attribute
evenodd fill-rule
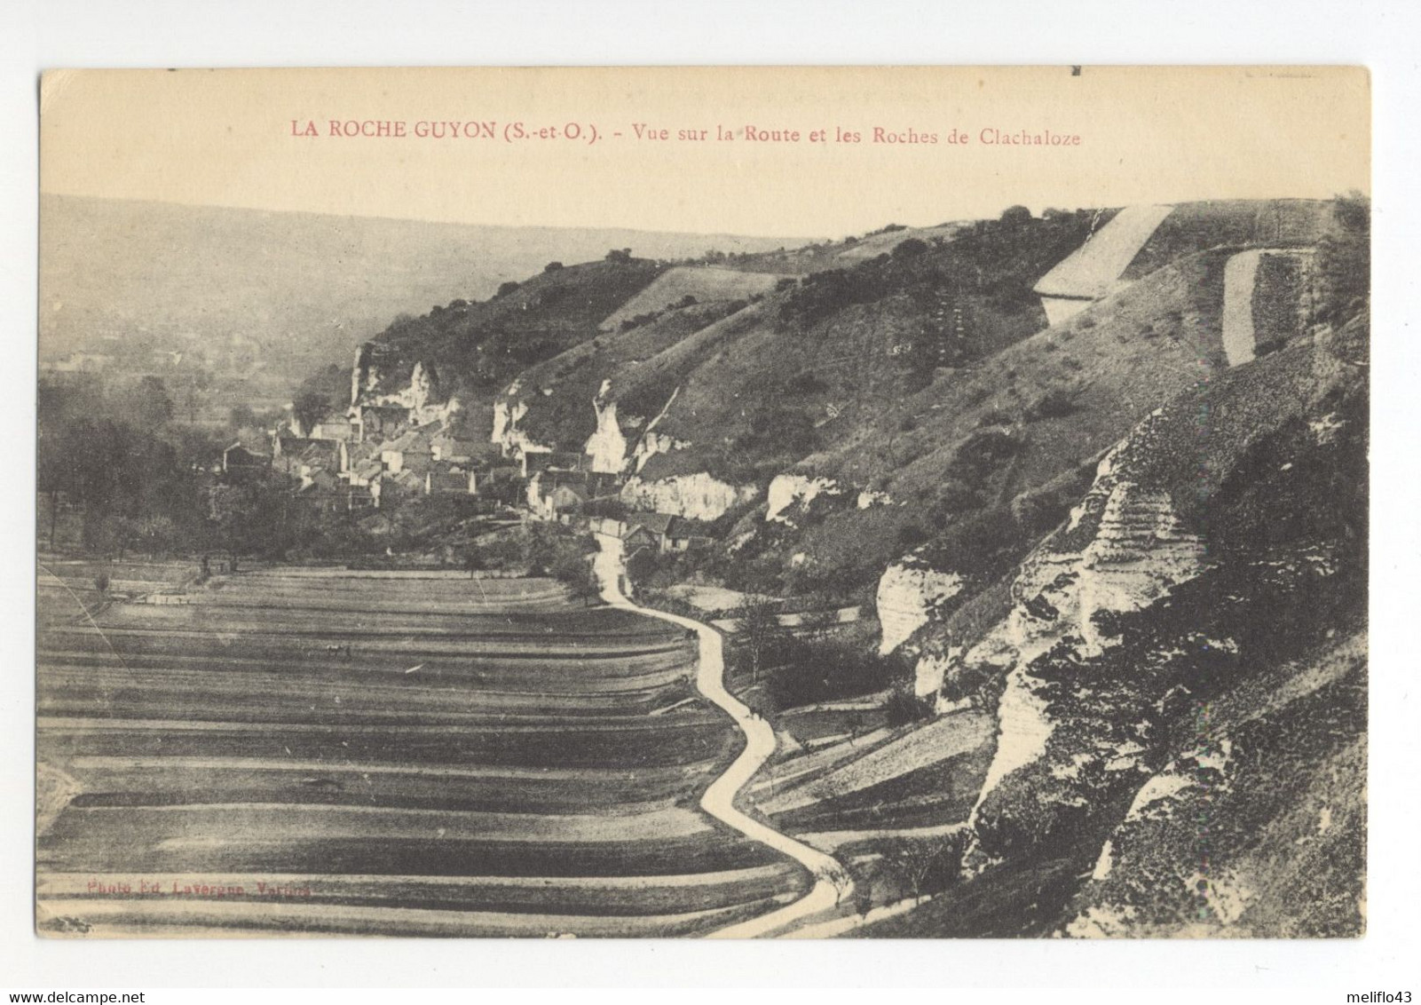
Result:
<svg viewBox="0 0 1421 1005"><path fill-rule="evenodd" d="M601 583L601 596L612 607L637 611L691 628L701 640L701 658L696 670L696 688L709 701L735 719L745 733L745 749L701 797L701 809L716 820L733 827L753 842L759 842L800 863L814 877L814 886L799 900L749 921L733 924L710 933L710 938L760 938L789 934L801 923L833 911L844 903L854 890L848 871L830 854L782 834L773 827L742 813L735 806L735 797L774 753L774 729L769 722L752 712L725 688L725 657L720 633L679 614L668 614L649 607L638 607L621 591L622 552L621 540L597 534L598 552L593 569Z"/></svg>

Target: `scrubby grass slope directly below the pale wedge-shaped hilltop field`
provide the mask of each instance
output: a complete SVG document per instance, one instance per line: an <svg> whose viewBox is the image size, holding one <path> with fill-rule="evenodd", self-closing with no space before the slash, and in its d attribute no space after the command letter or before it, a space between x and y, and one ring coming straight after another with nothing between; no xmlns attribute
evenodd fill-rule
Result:
<svg viewBox="0 0 1421 1005"><path fill-rule="evenodd" d="M850 503L828 512L776 544L773 554L804 552L810 564L872 576L905 550L899 537L905 526L926 532L929 540L951 539L952 527L934 525L929 509L949 476L988 507L1053 479L1071 479L1151 409L1219 371L1225 257L1191 256L1061 326L942 374L833 452L809 458L806 471L884 490L892 505L860 510ZM1030 404L1052 389L1067 391L1073 411L1027 421ZM908 432L901 428L905 421L912 425ZM1020 442L1019 453L1010 462L965 471L955 458L983 426L1009 429ZM1023 536L1020 544L1029 547L1030 540Z"/></svg>

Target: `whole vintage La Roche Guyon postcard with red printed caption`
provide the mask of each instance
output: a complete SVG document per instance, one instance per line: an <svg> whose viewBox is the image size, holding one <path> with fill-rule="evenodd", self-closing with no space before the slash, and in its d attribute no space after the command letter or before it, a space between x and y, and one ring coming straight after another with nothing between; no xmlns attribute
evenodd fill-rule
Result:
<svg viewBox="0 0 1421 1005"><path fill-rule="evenodd" d="M1367 933L1366 68L38 100L41 940Z"/></svg>

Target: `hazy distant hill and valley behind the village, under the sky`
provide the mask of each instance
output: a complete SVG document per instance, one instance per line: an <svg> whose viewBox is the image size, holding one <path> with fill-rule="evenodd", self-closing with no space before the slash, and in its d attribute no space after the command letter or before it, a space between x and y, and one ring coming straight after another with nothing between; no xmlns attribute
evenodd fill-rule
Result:
<svg viewBox="0 0 1421 1005"><path fill-rule="evenodd" d="M41 358L105 335L171 348L254 340L267 370L300 378L401 313L482 300L550 260L611 247L681 259L759 252L783 237L490 227L215 206L41 198ZM195 338L196 337L196 338ZM115 345L115 338L108 340Z"/></svg>

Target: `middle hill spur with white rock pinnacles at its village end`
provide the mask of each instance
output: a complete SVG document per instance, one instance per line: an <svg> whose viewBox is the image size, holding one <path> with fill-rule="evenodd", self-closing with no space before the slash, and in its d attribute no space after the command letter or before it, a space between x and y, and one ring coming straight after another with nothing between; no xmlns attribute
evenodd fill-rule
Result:
<svg viewBox="0 0 1421 1005"><path fill-rule="evenodd" d="M736 303L733 316L654 355L615 354L635 358L632 367L561 360L556 380L540 372L520 381L507 405L526 409L520 424L541 424L547 445L580 449L585 424L558 426L539 412L563 397L560 381L610 381L605 401L617 402L628 431L659 415L658 431L684 444L659 452L644 468L648 478L705 471L769 482L864 422L881 399L921 389L936 367L985 358L1043 328L1030 287L1084 239L1088 222L1088 213L989 222L952 242L902 240L892 254L780 280L762 300ZM600 341L611 348L622 335ZM583 370L590 377L573 377ZM634 449L635 436L628 442Z"/></svg>

